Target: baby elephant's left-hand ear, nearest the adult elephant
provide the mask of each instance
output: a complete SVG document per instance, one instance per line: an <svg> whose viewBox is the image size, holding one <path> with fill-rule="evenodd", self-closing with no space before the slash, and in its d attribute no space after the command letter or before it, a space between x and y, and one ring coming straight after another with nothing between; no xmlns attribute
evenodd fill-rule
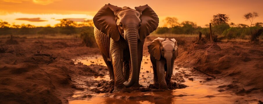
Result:
<svg viewBox="0 0 263 104"><path fill-rule="evenodd" d="M148 52L156 59L160 60L161 58L161 50L160 50L160 44L164 40L164 38L156 38L148 45Z"/></svg>

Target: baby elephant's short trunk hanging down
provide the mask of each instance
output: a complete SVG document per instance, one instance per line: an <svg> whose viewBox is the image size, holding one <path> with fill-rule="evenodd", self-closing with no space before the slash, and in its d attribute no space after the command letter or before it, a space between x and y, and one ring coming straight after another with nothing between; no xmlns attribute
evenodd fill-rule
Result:
<svg viewBox="0 0 263 104"><path fill-rule="evenodd" d="M172 53L168 53L168 54L167 54L166 63L167 63L166 82L167 82L167 84L169 84L169 83L170 83L170 80L171 80L172 73L173 73Z"/></svg>

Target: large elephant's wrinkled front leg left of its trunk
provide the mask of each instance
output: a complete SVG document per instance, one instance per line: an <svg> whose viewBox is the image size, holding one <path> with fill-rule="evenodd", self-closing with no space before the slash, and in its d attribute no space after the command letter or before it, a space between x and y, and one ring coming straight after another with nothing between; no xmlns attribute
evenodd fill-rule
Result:
<svg viewBox="0 0 263 104"><path fill-rule="evenodd" d="M114 90L118 92L124 88L124 76L123 76L123 46L120 41L110 41L110 55L114 72Z"/></svg>

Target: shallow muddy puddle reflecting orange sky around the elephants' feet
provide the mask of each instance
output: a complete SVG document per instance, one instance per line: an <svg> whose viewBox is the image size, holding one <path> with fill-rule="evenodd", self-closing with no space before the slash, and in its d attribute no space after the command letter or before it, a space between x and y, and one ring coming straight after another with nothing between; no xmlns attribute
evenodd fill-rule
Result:
<svg viewBox="0 0 263 104"><path fill-rule="evenodd" d="M99 64L106 66L101 56L85 57L75 60L85 65ZM176 64L175 64L176 65ZM208 76L207 76L208 77ZM80 87L69 99L69 104L89 104L89 103L185 103L185 104L226 104L226 103L251 103L257 104L258 100L253 96L240 96L232 92L224 91L220 88L224 85L220 79L206 79L191 73L191 68L174 66L172 81L182 83L188 87L183 89L158 91L158 92L116 92L116 93L95 93L90 89L96 88L101 80L109 81L109 75L100 77L79 76L72 79L76 86ZM93 82L93 83L90 83ZM144 56L139 83L146 87L153 83L153 69L149 56Z"/></svg>

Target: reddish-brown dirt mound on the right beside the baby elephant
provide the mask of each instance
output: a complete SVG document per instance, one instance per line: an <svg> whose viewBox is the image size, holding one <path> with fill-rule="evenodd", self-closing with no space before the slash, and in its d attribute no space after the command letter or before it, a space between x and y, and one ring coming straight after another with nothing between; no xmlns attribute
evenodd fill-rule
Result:
<svg viewBox="0 0 263 104"><path fill-rule="evenodd" d="M180 66L194 66L222 79L231 79L240 87L234 91L236 93L250 92L249 89L262 92L262 50L262 44L253 44L252 47L250 43L244 42L191 44L187 50L179 50L181 54L176 63ZM247 90L242 91L243 88Z"/></svg>

